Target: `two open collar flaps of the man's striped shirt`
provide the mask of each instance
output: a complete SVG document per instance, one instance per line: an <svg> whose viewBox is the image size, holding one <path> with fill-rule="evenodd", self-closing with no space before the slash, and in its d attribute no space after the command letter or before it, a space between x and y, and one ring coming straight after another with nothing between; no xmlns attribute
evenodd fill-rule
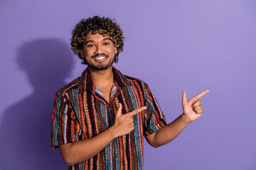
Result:
<svg viewBox="0 0 256 170"><path fill-rule="evenodd" d="M131 82L126 77L124 77L124 75L118 69L112 67L112 71L114 74L114 84L117 86L117 88L122 88L123 86L132 86ZM82 75L80 77L78 94L85 91L92 91L92 93L95 92L95 85L90 78L88 67L85 69L84 72L82 72Z"/></svg>

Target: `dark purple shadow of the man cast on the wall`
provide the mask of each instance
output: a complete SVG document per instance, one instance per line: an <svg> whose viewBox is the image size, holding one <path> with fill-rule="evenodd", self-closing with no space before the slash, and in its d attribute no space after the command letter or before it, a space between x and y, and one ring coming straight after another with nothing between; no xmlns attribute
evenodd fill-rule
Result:
<svg viewBox="0 0 256 170"><path fill-rule="evenodd" d="M1 169L67 169L50 140L54 96L73 69L71 51L58 39L37 39L17 52L18 67L28 74L34 91L6 109L1 120ZM18 82L16 88L23 90Z"/></svg>

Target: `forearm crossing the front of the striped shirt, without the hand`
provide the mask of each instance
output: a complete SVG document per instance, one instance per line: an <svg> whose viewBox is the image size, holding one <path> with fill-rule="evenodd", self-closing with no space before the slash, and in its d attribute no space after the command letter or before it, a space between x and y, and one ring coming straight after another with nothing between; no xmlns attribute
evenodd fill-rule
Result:
<svg viewBox="0 0 256 170"><path fill-rule="evenodd" d="M90 139L60 145L60 153L68 166L78 164L98 154L109 145L115 137L117 137L117 135L114 132L114 128L110 127Z"/></svg>

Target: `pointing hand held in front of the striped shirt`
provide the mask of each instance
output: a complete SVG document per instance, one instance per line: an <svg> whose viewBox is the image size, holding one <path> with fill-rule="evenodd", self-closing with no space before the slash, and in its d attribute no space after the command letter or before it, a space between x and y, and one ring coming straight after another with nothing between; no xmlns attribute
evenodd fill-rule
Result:
<svg viewBox="0 0 256 170"><path fill-rule="evenodd" d="M134 130L134 115L144 110L146 110L146 106L143 106L142 108L137 108L136 110L123 115L122 104L119 103L119 107L117 108L117 113L114 116L114 125L113 125L113 128L116 131L117 137L126 135L129 132L132 132L132 130Z"/></svg>

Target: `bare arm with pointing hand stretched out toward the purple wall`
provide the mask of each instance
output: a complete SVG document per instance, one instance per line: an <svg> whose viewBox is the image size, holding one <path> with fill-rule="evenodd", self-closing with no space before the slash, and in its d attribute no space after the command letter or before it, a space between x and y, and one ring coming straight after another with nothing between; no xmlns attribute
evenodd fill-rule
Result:
<svg viewBox="0 0 256 170"><path fill-rule="evenodd" d="M201 106L201 101L198 101L198 99L207 93L208 90L203 91L187 101L186 93L183 91L183 114L178 116L178 118L169 125L165 125L164 128L161 128L159 131L146 136L147 142L149 142L152 147L160 147L174 140L189 123L201 117L203 114L203 106Z"/></svg>

